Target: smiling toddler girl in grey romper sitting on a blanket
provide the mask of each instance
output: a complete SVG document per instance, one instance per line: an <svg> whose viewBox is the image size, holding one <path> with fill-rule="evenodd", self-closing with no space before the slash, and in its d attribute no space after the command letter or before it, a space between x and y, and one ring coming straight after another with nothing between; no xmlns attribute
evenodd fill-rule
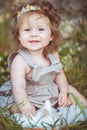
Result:
<svg viewBox="0 0 87 130"><path fill-rule="evenodd" d="M8 57L11 80L0 88L1 106L12 109L16 104L17 112L32 117L46 100L55 108L75 104L68 96L71 92L87 106L87 100L68 85L59 60L59 25L59 10L46 0L16 6L13 35L19 49Z"/></svg>

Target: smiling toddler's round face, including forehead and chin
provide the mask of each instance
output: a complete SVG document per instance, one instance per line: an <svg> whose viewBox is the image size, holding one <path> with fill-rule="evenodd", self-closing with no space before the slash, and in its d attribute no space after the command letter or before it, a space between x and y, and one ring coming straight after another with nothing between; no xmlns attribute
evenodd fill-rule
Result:
<svg viewBox="0 0 87 130"><path fill-rule="evenodd" d="M21 45L28 51L42 50L53 39L48 17L32 14L25 17L19 29Z"/></svg>

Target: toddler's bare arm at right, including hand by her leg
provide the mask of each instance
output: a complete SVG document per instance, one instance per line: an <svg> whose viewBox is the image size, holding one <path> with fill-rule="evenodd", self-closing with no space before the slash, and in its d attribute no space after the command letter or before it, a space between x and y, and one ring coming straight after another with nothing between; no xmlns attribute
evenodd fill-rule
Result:
<svg viewBox="0 0 87 130"><path fill-rule="evenodd" d="M60 61L58 53L54 53L58 61ZM60 73L55 78L55 83L58 85L59 96L58 96L58 105L59 106L67 106L68 105L68 93L69 93L69 85L64 74L63 69L61 69ZM69 103L70 104L70 103Z"/></svg>

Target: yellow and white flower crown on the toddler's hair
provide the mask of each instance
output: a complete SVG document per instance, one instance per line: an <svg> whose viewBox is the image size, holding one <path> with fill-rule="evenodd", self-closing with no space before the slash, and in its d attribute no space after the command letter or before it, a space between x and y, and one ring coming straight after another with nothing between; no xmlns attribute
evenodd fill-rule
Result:
<svg viewBox="0 0 87 130"><path fill-rule="evenodd" d="M31 10L40 10L40 7L37 6L30 6L29 4L26 7L23 7L20 12L17 12L17 20L23 15L24 13L31 11Z"/></svg>

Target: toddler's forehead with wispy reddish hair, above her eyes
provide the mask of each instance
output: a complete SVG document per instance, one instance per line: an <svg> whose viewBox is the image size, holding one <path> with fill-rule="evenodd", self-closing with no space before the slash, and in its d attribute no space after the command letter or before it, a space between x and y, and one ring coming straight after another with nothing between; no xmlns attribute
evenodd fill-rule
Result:
<svg viewBox="0 0 87 130"><path fill-rule="evenodd" d="M26 13L26 15L24 15L20 21L21 24L19 25L30 25L30 26L47 25L48 26L50 24L50 20L47 16L38 13L33 13L33 14Z"/></svg>

